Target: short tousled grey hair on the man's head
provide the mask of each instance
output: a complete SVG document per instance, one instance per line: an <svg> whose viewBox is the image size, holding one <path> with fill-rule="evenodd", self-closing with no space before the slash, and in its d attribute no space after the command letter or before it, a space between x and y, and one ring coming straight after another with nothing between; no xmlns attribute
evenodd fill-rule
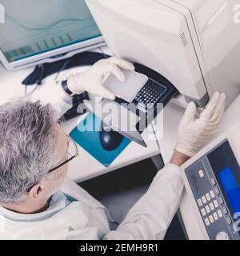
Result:
<svg viewBox="0 0 240 256"><path fill-rule="evenodd" d="M22 202L56 164L56 116L24 98L0 106L0 202Z"/></svg>

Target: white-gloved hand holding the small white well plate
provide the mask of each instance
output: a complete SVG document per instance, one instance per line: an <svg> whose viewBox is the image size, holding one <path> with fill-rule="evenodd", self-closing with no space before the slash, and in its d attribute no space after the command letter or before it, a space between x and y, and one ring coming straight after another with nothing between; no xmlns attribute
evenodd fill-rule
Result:
<svg viewBox="0 0 240 256"><path fill-rule="evenodd" d="M67 78L68 88L74 94L81 94L83 91L87 91L102 98L114 99L115 95L102 84L110 74L114 74L116 78L124 82L124 74L120 68L134 70L134 65L116 57L102 59L86 72L71 75Z"/></svg>

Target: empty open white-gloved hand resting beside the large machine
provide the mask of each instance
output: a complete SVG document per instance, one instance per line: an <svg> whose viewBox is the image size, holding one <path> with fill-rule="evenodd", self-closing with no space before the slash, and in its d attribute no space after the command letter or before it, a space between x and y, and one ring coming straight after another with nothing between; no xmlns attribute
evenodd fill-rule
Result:
<svg viewBox="0 0 240 256"><path fill-rule="evenodd" d="M191 102L178 127L178 143L175 150L193 157L198 150L217 133L225 109L225 94L214 93L206 109L195 118L197 107Z"/></svg>

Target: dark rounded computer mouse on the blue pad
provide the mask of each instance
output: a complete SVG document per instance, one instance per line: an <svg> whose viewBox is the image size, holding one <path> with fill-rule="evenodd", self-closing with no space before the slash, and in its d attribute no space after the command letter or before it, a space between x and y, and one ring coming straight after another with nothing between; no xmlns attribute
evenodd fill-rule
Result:
<svg viewBox="0 0 240 256"><path fill-rule="evenodd" d="M106 131L102 129L99 132L99 138L102 148L104 150L112 151L117 149L121 144L123 136L114 130Z"/></svg>

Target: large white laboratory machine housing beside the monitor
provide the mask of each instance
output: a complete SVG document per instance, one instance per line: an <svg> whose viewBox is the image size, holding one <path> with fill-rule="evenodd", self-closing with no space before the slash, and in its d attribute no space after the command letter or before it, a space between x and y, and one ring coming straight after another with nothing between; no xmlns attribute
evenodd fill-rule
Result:
<svg viewBox="0 0 240 256"><path fill-rule="evenodd" d="M206 106L240 90L238 0L86 0L113 54L166 77L186 101Z"/></svg>

